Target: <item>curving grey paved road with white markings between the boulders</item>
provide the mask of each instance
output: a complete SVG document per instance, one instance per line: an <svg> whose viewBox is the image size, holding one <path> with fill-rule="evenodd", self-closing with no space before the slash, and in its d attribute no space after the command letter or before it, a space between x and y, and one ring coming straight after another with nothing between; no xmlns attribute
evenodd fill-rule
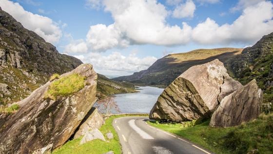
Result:
<svg viewBox="0 0 273 154"><path fill-rule="evenodd" d="M148 125L147 120L148 117L121 117L113 121L123 154L211 154L188 140Z"/></svg>

